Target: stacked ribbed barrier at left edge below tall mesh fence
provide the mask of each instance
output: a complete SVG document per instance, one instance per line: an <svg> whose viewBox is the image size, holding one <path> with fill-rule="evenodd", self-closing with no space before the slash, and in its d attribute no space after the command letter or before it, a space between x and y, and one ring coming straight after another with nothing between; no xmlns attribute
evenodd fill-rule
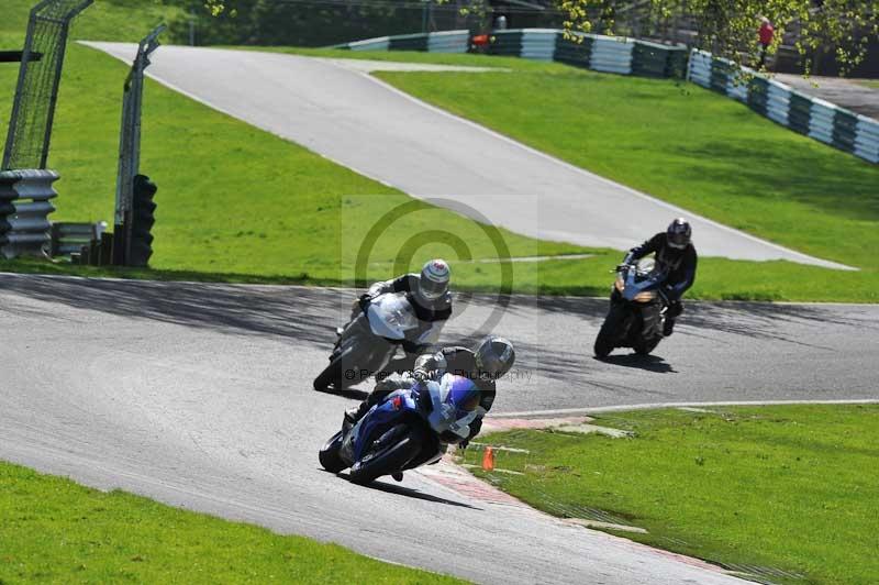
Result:
<svg viewBox="0 0 879 585"><path fill-rule="evenodd" d="M55 211L49 202L57 197L52 170L0 172L0 254L7 258L41 256L48 252Z"/></svg>

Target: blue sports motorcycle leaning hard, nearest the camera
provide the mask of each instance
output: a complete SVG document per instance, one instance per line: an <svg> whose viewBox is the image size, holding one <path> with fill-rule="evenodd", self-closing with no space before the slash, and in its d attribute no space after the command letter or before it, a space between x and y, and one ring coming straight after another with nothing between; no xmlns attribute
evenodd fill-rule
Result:
<svg viewBox="0 0 879 585"><path fill-rule="evenodd" d="M479 398L474 380L463 376L413 380L410 388L390 393L356 424L345 422L321 449L321 465L333 473L351 467L348 478L360 485L382 475L399 479L404 470L439 461L449 444L469 437Z"/></svg>

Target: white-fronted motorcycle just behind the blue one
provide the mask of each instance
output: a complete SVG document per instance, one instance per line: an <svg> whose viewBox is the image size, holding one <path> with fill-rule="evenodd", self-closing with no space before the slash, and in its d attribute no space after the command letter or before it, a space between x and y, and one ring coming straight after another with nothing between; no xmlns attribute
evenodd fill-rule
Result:
<svg viewBox="0 0 879 585"><path fill-rule="evenodd" d="M344 391L382 372L402 350L415 356L439 339L445 321L420 321L404 292L387 292L361 303L352 321L338 333L327 365L314 378L314 389ZM402 356L401 356L402 357Z"/></svg>

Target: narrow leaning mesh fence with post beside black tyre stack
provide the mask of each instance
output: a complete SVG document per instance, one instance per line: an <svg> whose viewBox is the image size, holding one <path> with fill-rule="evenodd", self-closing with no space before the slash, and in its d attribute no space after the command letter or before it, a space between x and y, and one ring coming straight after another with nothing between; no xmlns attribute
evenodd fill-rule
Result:
<svg viewBox="0 0 879 585"><path fill-rule="evenodd" d="M149 56L159 47L158 35L165 25L157 26L137 46L122 97L122 124L119 136L119 174L116 177L116 205L113 218L113 264L120 266L146 266L147 254L143 249L143 234L136 246L134 238L135 178L141 168L141 114L143 111L144 71L149 66ZM152 197L152 196L151 196ZM143 222L141 223L143 225ZM149 225L152 228L152 223ZM148 233L146 235L149 235ZM152 242L152 236L149 236ZM147 244L147 247L148 244ZM143 258L146 260L143 260Z"/></svg>

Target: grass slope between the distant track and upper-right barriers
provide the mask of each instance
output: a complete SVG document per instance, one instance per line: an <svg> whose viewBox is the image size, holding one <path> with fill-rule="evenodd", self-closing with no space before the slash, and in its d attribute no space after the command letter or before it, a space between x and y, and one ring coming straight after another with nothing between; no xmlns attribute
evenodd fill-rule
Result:
<svg viewBox="0 0 879 585"><path fill-rule="evenodd" d="M698 86L558 64L515 75L377 75L733 228L819 257L879 267L871 252L879 246L879 166Z"/></svg>

